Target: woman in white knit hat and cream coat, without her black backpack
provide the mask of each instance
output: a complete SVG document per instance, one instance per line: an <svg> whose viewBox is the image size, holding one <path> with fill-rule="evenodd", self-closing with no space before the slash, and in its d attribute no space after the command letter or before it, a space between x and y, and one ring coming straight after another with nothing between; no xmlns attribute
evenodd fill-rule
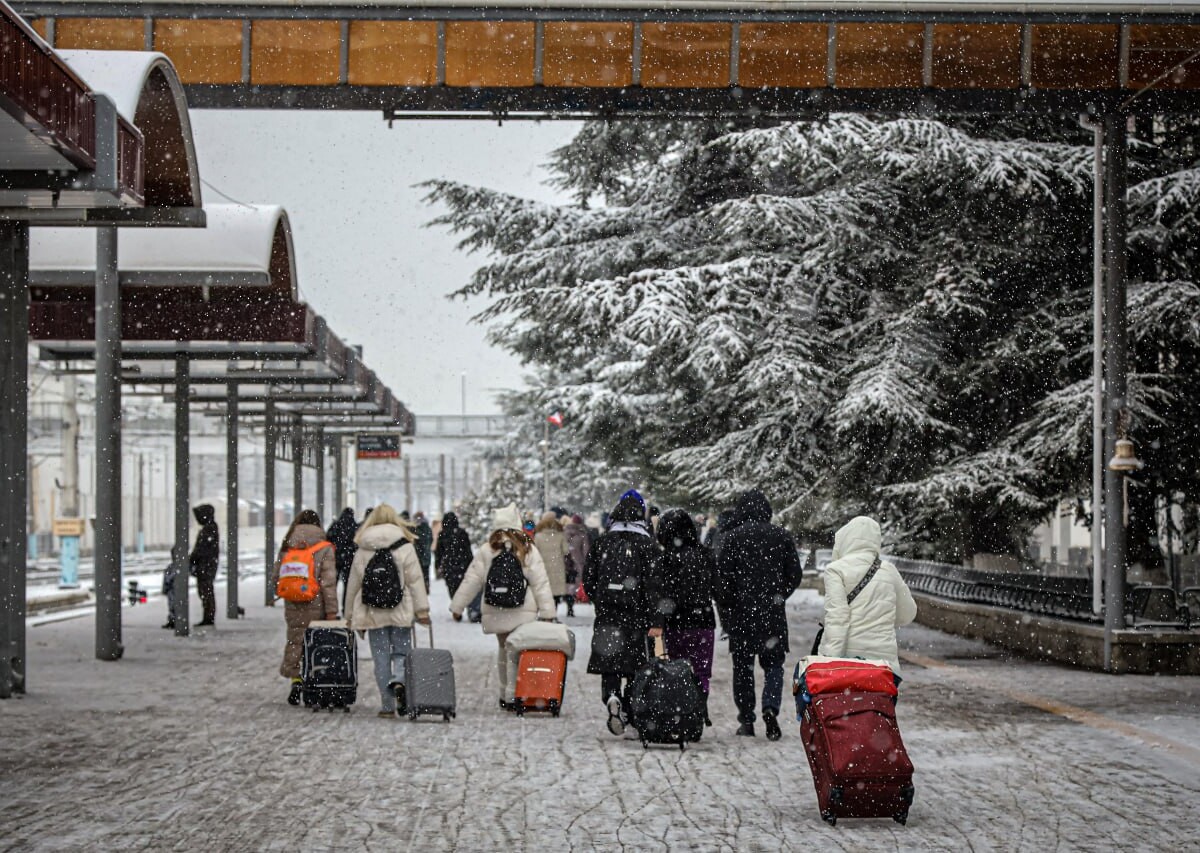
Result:
<svg viewBox="0 0 1200 853"><path fill-rule="evenodd" d="M492 567L492 560L496 559L502 548L511 551L521 564L521 571L526 578L526 597L521 607L493 607L485 599L482 627L484 633L494 633L499 644L496 669L500 677L500 707L509 710L511 703L504 696L509 674L509 654L505 645L509 635L528 621L536 619L553 621L557 611L554 596L550 591L550 578L546 577L546 566L538 548L521 529L521 513L517 511L516 504L509 504L492 512L492 534L475 552L475 559L467 566L467 573L463 576L462 583L458 584L458 591L450 601L450 612L456 618L461 617L475 594L484 589L487 584L487 572Z"/></svg>

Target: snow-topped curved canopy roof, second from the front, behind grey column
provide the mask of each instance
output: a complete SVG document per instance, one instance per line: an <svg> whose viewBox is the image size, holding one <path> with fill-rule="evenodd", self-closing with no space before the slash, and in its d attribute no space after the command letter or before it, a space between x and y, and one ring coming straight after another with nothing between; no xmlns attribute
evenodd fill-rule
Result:
<svg viewBox="0 0 1200 853"><path fill-rule="evenodd" d="M118 253L121 284L269 287L295 300L295 250L283 208L214 204L204 212L206 228L124 232ZM36 228L29 266L35 287L91 286L95 235L78 228Z"/></svg>

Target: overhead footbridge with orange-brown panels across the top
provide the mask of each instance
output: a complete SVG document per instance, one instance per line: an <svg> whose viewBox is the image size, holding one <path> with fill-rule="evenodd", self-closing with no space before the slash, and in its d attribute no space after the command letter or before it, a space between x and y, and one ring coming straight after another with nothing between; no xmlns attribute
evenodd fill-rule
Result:
<svg viewBox="0 0 1200 853"><path fill-rule="evenodd" d="M107 10L131 17L86 17ZM659 12L655 20L631 10L50 2L24 11L41 16L35 25L58 47L164 52L197 107L382 109L401 118L1175 112L1200 103L1200 18L1187 14L697 12L664 20Z"/></svg>

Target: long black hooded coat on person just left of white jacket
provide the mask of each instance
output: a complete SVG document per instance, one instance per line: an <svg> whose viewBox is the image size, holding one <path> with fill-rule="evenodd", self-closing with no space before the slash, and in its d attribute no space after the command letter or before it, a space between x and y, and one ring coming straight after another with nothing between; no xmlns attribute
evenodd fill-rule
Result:
<svg viewBox="0 0 1200 853"><path fill-rule="evenodd" d="M787 596L800 584L800 557L792 534L770 523L770 501L758 489L733 510L716 558L716 600L732 636L787 644Z"/></svg>

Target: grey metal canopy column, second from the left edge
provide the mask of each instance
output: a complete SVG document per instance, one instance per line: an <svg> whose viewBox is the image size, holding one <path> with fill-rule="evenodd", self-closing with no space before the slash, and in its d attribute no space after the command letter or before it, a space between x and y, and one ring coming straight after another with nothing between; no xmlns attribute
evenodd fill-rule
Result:
<svg viewBox="0 0 1200 853"><path fill-rule="evenodd" d="M186 535L186 534L185 534ZM96 229L96 659L121 645L121 288L116 228Z"/></svg>

